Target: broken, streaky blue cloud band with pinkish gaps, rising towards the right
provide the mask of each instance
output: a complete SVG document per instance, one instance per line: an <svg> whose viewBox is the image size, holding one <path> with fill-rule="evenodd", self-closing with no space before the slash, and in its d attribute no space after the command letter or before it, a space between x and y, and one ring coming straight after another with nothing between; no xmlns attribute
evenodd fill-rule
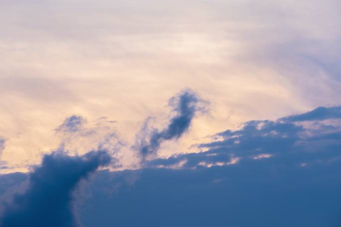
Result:
<svg viewBox="0 0 341 227"><path fill-rule="evenodd" d="M195 168L269 159L304 167L333 162L341 159L340 110L341 107L319 107L275 121L248 121L239 130L220 132L215 141L199 144L204 152L155 159L149 164Z"/></svg>

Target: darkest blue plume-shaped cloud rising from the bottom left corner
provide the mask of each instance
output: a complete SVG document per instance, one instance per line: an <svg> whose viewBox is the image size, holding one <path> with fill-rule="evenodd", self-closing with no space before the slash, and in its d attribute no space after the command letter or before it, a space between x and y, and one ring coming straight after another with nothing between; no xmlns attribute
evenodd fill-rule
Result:
<svg viewBox="0 0 341 227"><path fill-rule="evenodd" d="M55 151L43 157L40 166L29 174L29 186L5 204L1 227L78 227L72 207L73 192L82 179L108 165L106 151L91 151L69 156Z"/></svg>

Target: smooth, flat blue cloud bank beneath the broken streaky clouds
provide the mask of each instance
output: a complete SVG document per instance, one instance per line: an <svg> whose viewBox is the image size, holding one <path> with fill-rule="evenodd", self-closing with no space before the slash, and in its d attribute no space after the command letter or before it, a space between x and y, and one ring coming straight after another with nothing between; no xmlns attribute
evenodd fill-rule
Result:
<svg viewBox="0 0 341 227"><path fill-rule="evenodd" d="M100 172L81 220L85 227L339 227L340 171L340 161L301 168L261 159L211 168ZM139 179L131 185L134 174Z"/></svg>

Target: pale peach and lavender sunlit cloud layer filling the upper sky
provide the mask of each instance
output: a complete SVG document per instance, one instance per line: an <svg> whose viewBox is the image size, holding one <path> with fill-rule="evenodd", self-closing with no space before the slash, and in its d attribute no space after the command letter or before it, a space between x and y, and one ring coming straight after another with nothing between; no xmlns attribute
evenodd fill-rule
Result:
<svg viewBox="0 0 341 227"><path fill-rule="evenodd" d="M18 170L58 147L54 129L74 114L115 120L133 143L186 87L211 112L168 154L246 120L339 104L336 0L0 4L2 160Z"/></svg>

